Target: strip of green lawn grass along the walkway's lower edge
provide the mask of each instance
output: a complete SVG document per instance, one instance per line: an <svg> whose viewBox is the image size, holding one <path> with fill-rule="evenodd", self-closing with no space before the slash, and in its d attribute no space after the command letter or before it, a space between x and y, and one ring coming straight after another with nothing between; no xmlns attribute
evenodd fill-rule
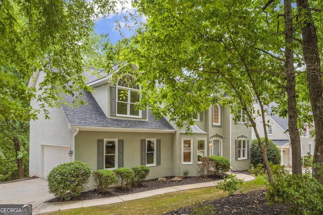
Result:
<svg viewBox="0 0 323 215"><path fill-rule="evenodd" d="M244 182L242 190L247 192L264 187L264 178L258 176L253 181ZM121 203L60 210L46 214L162 214L180 207L226 197L227 195L227 192L224 193L217 187L207 187L166 193Z"/></svg>

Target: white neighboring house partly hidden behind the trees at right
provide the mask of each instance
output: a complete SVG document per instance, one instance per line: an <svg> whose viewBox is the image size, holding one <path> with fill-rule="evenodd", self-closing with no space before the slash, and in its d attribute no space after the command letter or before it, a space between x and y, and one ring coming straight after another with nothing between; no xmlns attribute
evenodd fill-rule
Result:
<svg viewBox="0 0 323 215"><path fill-rule="evenodd" d="M284 166L292 166L292 147L290 144L290 136L288 132L288 119L279 117L272 113L271 109L275 103L264 106L266 108L265 121L267 123L266 132L268 138L273 140L278 149L281 151L281 164ZM260 111L258 104L253 105L255 112ZM257 131L260 137L264 137L264 130L262 119L260 116L256 117ZM304 126L301 137L301 156L307 156L307 152L314 154L314 139L309 136L308 126ZM252 139L255 139L254 129L252 129Z"/></svg>

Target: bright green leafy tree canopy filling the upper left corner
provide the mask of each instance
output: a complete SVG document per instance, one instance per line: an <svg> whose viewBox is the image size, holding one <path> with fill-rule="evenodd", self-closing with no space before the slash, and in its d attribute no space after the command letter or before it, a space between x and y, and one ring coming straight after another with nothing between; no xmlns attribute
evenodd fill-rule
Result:
<svg viewBox="0 0 323 215"><path fill-rule="evenodd" d="M6 89L6 94L1 93L0 119L24 118L21 107L10 100L18 85L6 73L8 67L17 69L23 80L37 70L44 71L44 81L39 85L43 91L36 98L42 109L60 106L64 102L62 94L91 90L82 76L83 53L91 45L94 20L100 13L114 12L115 5L115 1L1 1L0 87ZM81 96L75 97L70 105L80 102Z"/></svg>

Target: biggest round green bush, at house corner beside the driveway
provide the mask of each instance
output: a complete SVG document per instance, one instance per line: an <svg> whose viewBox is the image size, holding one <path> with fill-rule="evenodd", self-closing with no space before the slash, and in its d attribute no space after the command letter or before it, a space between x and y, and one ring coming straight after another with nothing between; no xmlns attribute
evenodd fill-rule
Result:
<svg viewBox="0 0 323 215"><path fill-rule="evenodd" d="M85 163L74 161L61 164L47 176L49 193L68 201L81 194L90 176L91 167Z"/></svg>

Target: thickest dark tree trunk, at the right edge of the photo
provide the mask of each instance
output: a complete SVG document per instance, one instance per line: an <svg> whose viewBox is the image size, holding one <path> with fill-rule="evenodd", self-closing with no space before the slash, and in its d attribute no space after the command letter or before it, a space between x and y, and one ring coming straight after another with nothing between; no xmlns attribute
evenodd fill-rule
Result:
<svg viewBox="0 0 323 215"><path fill-rule="evenodd" d="M303 55L306 64L307 85L312 105L313 119L315 124L315 149L313 164L323 163L323 86L321 80L320 58L317 46L317 36L312 15L307 0L297 0L298 16L304 20L301 24L303 38ZM302 15L302 10L306 13ZM302 17L305 17L303 19ZM313 168L313 177L323 182L319 177L318 168Z"/></svg>

